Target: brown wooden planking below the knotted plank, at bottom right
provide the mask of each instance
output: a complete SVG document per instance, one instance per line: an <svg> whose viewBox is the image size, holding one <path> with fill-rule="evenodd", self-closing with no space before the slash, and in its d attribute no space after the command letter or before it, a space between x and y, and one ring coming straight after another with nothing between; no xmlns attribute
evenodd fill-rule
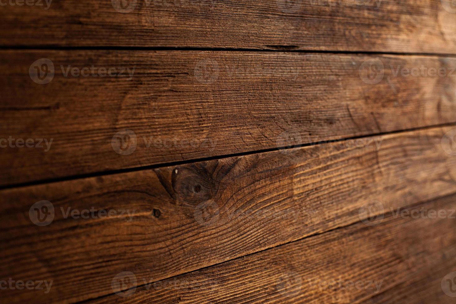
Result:
<svg viewBox="0 0 456 304"><path fill-rule="evenodd" d="M408 210L454 213L455 199ZM440 282L456 267L455 222L390 215L91 303L454 303Z"/></svg>

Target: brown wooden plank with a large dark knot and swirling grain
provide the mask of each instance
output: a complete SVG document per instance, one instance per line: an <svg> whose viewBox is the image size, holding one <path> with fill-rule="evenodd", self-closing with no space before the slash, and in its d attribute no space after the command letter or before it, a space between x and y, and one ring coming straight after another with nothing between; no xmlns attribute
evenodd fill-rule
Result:
<svg viewBox="0 0 456 304"><path fill-rule="evenodd" d="M449 195L456 178L450 142L442 146L449 131L385 135L380 149L364 138L358 147L343 141L2 190L0 278L55 286L46 297L37 290L3 297L94 299L112 293L123 271L155 282L368 223L383 214L378 202L388 211Z"/></svg>

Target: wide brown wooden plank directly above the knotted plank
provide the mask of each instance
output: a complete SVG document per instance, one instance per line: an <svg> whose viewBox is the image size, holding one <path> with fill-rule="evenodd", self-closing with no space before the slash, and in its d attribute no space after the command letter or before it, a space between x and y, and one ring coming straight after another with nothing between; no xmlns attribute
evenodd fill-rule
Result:
<svg viewBox="0 0 456 304"><path fill-rule="evenodd" d="M447 57L1 51L0 68L0 185L456 122Z"/></svg>

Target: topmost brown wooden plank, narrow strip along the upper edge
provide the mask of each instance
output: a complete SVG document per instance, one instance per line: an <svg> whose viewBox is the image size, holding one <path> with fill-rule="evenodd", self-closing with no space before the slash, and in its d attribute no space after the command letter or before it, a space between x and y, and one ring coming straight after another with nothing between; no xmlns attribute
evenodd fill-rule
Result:
<svg viewBox="0 0 456 304"><path fill-rule="evenodd" d="M451 0L39 2L1 7L2 46L456 52Z"/></svg>

